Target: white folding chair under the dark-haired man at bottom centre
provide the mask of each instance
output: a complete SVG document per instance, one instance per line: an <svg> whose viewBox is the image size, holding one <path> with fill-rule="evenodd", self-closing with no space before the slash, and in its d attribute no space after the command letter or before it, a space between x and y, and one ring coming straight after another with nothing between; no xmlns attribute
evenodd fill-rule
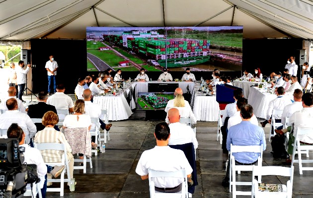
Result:
<svg viewBox="0 0 313 198"><path fill-rule="evenodd" d="M150 198L188 198L188 184L187 184L187 174L184 169L175 172L162 172L155 170L148 170L149 175L149 188L150 188ZM181 191L178 193L161 193L156 192L155 183L151 180L153 177L175 177L184 178Z"/></svg>

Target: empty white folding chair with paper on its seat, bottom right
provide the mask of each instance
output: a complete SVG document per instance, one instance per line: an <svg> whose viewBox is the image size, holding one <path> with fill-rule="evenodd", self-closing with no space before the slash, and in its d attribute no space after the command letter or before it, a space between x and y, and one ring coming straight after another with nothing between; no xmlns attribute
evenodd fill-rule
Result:
<svg viewBox="0 0 313 198"><path fill-rule="evenodd" d="M278 175L284 177L290 177L290 180L286 185L282 185L283 192L267 192L259 191L258 181L254 179L256 175ZM252 195L251 198L292 198L292 186L294 178L294 166L282 167L282 166L254 166L252 168Z"/></svg>

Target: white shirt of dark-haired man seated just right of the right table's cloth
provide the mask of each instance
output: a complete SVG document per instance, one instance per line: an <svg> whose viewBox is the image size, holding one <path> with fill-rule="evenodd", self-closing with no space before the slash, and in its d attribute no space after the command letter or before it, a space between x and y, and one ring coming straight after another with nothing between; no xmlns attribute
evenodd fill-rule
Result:
<svg viewBox="0 0 313 198"><path fill-rule="evenodd" d="M291 104L291 103L292 103L291 99L289 99L286 96L278 96L276 99L273 99L268 104L266 119L268 120L271 118L273 109L283 110L285 108L285 106L287 106L288 104ZM281 119L281 115L275 115L273 118Z"/></svg>

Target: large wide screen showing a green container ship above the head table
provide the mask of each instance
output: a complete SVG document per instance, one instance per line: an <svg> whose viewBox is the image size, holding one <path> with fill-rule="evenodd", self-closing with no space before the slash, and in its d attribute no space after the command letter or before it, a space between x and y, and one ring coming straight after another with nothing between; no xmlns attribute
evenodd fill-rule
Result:
<svg viewBox="0 0 313 198"><path fill-rule="evenodd" d="M239 71L243 26L87 27L87 70Z"/></svg>

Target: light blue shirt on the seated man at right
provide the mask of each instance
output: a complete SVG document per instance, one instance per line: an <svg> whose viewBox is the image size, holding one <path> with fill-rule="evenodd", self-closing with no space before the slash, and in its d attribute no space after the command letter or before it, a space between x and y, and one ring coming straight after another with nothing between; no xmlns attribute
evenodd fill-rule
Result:
<svg viewBox="0 0 313 198"><path fill-rule="evenodd" d="M231 144L235 146L257 146L263 145L266 148L264 131L261 127L251 124L249 121L241 121L232 126L227 135L226 148L231 150ZM237 152L233 154L235 160L240 163L253 163L257 160L260 153Z"/></svg>

